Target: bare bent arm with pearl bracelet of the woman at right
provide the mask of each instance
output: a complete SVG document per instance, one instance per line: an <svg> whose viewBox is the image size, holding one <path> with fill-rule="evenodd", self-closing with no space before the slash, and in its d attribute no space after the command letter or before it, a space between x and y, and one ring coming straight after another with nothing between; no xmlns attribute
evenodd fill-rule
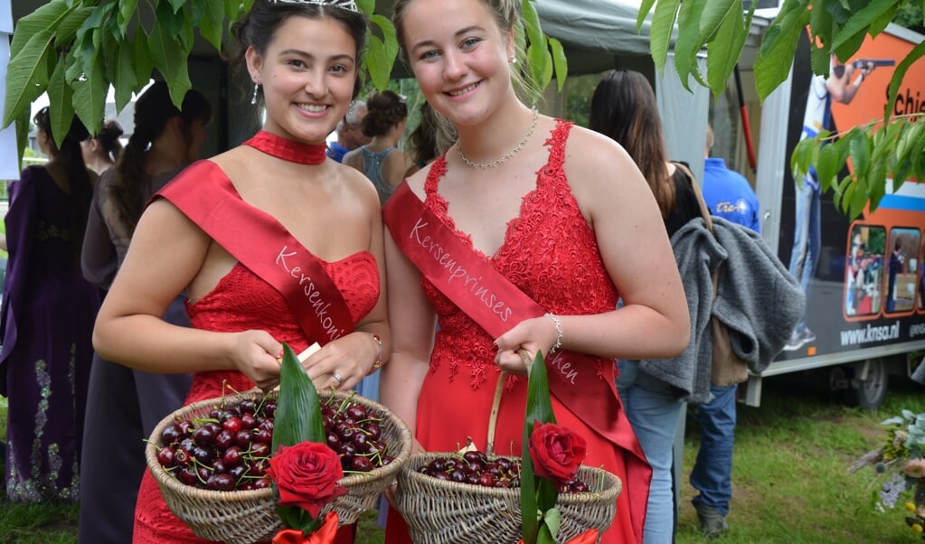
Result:
<svg viewBox="0 0 925 544"><path fill-rule="evenodd" d="M561 347L602 357L653 359L685 350L690 317L672 247L655 198L617 143L574 128L565 171L623 307L598 315L559 315ZM513 352L549 351L558 336L548 317L527 319L497 340L499 363L524 370Z"/></svg>

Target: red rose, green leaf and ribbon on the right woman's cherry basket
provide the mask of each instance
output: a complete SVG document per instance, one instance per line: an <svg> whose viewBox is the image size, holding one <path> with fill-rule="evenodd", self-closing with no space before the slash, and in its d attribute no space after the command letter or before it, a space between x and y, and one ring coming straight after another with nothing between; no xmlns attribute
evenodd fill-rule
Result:
<svg viewBox="0 0 925 544"><path fill-rule="evenodd" d="M585 461L586 441L572 429L556 425L549 399L549 378L543 354L528 366L524 445L521 453L521 526L523 544L552 544L559 533L559 490L568 488ZM528 515L535 512L536 515ZM588 529L569 544L597 542Z"/></svg>

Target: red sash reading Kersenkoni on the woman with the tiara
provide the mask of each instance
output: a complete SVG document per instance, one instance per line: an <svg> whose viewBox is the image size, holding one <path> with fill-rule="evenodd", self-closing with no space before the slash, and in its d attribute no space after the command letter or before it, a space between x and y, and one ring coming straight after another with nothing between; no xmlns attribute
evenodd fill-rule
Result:
<svg viewBox="0 0 925 544"><path fill-rule="evenodd" d="M215 163L193 163L157 195L279 291L310 341L324 345L353 330L350 309L321 261L274 217L244 202Z"/></svg>

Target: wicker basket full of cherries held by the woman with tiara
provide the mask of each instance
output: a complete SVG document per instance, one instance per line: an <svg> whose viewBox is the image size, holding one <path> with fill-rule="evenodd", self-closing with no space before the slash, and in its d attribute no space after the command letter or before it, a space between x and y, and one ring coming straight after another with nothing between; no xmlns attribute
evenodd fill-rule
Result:
<svg viewBox="0 0 925 544"><path fill-rule="evenodd" d="M145 449L148 467L170 511L197 536L249 544L284 528L272 470L268 474L278 394L253 389L194 402L154 428ZM323 487L346 488L330 495L317 517L334 511L339 524L351 524L394 481L410 456L411 435L385 406L353 391L319 392L317 401L327 447L343 474Z"/></svg>

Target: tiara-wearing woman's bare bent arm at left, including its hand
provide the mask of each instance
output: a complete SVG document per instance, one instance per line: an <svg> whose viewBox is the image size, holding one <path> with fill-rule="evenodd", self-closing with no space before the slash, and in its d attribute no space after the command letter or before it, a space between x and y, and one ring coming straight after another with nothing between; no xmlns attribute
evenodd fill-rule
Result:
<svg viewBox="0 0 925 544"><path fill-rule="evenodd" d="M278 382L281 344L265 331L219 333L166 323L161 315L205 262L209 237L166 200L142 215L93 330L102 357L159 373L239 370L259 387Z"/></svg>

